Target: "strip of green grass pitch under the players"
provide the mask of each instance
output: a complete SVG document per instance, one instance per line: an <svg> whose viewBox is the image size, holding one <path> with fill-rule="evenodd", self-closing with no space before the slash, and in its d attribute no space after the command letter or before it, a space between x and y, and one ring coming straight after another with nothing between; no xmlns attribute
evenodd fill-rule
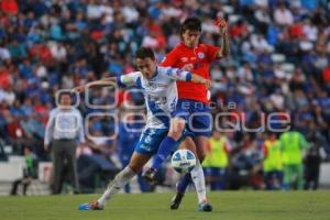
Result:
<svg viewBox="0 0 330 220"><path fill-rule="evenodd" d="M99 195L0 197L1 220L330 220L330 190L210 193L212 212L198 212L189 193L178 210L169 210L172 194L117 195L103 211L78 211L80 202Z"/></svg>

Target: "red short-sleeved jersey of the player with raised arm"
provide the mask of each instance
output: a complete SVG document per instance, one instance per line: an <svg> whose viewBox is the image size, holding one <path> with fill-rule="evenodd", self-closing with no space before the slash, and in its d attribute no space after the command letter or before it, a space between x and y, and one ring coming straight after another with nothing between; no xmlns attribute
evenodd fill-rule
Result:
<svg viewBox="0 0 330 220"><path fill-rule="evenodd" d="M187 47L184 43L179 43L169 52L161 63L161 66L170 66L174 68L183 68L187 64L193 64L193 74L209 79L210 64L217 58L218 46L208 44L198 44L197 47ZM208 103L207 88L201 84L191 81L177 81L178 98L190 99Z"/></svg>

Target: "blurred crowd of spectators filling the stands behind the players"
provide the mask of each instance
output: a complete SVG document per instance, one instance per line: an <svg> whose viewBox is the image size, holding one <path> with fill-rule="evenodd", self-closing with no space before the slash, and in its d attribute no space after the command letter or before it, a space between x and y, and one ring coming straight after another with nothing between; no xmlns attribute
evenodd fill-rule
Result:
<svg viewBox="0 0 330 220"><path fill-rule="evenodd" d="M262 112L288 113L292 128L310 143L320 161L329 160L327 0L1 0L0 145L12 146L11 151L0 147L1 158L22 155L28 145L40 161L51 160L43 139L56 91L133 72L133 54L141 45L154 48L161 61L180 42L180 22L193 15L202 20L201 42L213 45L220 43L215 19L229 22L231 57L210 69L213 113L244 112L248 128L260 125ZM79 109L84 116L117 113L125 110L125 102L143 101L139 94L116 96L119 102L111 110L90 108L81 100ZM110 90L95 90L87 100L110 105L114 96ZM99 119L91 119L88 132L94 136L111 133L114 122ZM267 134L238 131L224 135L231 140L230 164L240 170L257 169ZM120 132L114 141L89 140L89 147L78 152L110 158L123 152L125 141L136 139ZM89 170L101 165L108 167L101 163ZM262 188L260 182L253 179L255 188Z"/></svg>

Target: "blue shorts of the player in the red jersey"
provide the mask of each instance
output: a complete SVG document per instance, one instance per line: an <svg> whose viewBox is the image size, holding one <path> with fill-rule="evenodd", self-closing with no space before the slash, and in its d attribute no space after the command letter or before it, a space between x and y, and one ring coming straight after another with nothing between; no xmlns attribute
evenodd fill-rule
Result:
<svg viewBox="0 0 330 220"><path fill-rule="evenodd" d="M208 105L200 101L179 99L174 117L184 119L187 123L187 130L194 136L211 136L212 114Z"/></svg>

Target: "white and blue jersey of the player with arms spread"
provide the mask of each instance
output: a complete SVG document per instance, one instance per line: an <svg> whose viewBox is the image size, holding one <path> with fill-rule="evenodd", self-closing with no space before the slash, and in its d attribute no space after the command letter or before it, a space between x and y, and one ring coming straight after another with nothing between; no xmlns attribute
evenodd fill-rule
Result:
<svg viewBox="0 0 330 220"><path fill-rule="evenodd" d="M176 80L190 81L191 74L177 68L157 66L153 78L143 77L141 72L117 77L119 86L136 86L141 89L146 109L146 128L169 127L170 114L177 102Z"/></svg>

